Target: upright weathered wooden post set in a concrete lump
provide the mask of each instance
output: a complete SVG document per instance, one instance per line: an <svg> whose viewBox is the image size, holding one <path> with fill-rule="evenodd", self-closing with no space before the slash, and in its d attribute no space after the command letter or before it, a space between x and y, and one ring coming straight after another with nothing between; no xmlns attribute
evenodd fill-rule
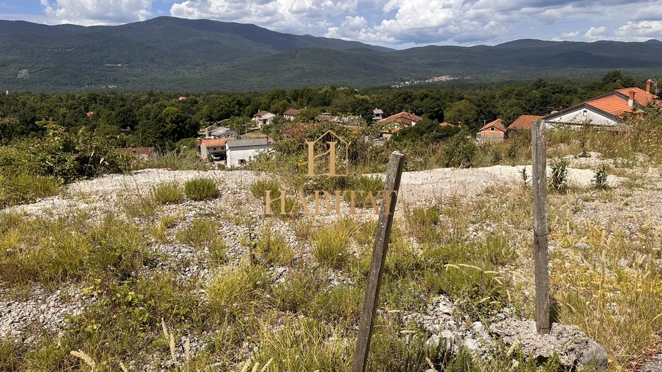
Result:
<svg viewBox="0 0 662 372"><path fill-rule="evenodd" d="M536 276L536 328L550 333L550 274L547 250L547 142L545 121L531 123L533 251Z"/></svg>

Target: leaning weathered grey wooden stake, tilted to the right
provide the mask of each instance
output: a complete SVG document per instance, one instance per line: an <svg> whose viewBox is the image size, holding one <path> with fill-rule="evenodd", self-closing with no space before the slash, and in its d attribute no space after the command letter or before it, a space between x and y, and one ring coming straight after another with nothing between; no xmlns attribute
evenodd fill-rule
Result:
<svg viewBox="0 0 662 372"><path fill-rule="evenodd" d="M370 262L370 273L368 273L368 287L363 297L363 309L361 309L361 321L359 322L359 338L357 349L354 353L352 372L365 372L368 364L368 351L370 350L370 339L372 338L372 322L377 311L379 302L379 288L383 274L386 250L393 225L395 203L397 192L400 189L400 177L404 164L404 154L393 152L388 159L386 169L386 181L384 183L384 203L381 205L379 222L374 234L374 247L372 248L372 261Z"/></svg>

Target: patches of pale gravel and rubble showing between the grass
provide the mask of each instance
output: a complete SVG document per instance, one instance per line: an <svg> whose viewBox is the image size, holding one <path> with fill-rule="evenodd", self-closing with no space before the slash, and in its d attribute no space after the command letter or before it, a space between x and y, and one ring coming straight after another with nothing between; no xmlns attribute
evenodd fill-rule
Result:
<svg viewBox="0 0 662 372"><path fill-rule="evenodd" d="M649 224L650 231L662 226L662 191L659 169L637 168L616 169L618 176L610 175L608 183L612 187L607 192L590 191L594 172L591 169L597 156L588 163L585 159L576 159L571 163L569 174L571 189L579 190L566 196L550 195L550 204L563 203L565 210L572 212L573 223L593 223L609 229L618 223L623 234L628 238L638 240L644 234L641 225L643 218ZM613 162L612 162L613 163ZM433 169L423 172L405 172L402 177L397 218L405 218L405 214L417 206L444 205L449 200L462 200L470 203L472 198L511 198L513 193L525 193L521 179L522 167L494 166L476 169ZM530 174L530 167L528 167ZM163 216L174 216L172 225L164 231L165 239L152 237L150 250L158 252L163 260L153 267L146 267L146 275L150 272L168 271L176 273L181 278L196 278L208 282L217 267L210 262L210 247L201 249L184 242L174 242L176 232L189 227L199 216L219 221L217 233L221 236L223 245L227 248L226 255L230 267L250 256L250 242L265 234L265 227L278 236L285 238L289 245L296 246L295 258L306 260L310 257L310 242L298 236L299 227L291 220L273 218L264 215L263 200L255 198L250 192L250 185L256 180L267 178L265 174L248 171L169 171L164 169L146 169L133 174L113 174L92 180L84 180L66 187L59 196L39 200L30 205L19 205L11 210L26 216L55 218L70 214L85 214L88 220L99 220L102 216L114 212L124 214L126 218L137 223L151 226L157 224ZM184 183L193 178L211 178L217 183L220 196L212 200L193 201L185 199L181 203L163 205L152 216L130 216L126 210L132 203L138 203L141 196L148 196L152 187L173 180ZM343 207L344 208L344 207ZM5 212L7 212L6 210ZM345 211L345 209L343 209ZM482 213L467 211L468 214ZM306 223L312 225L328 225L340 216L305 216ZM364 214L359 219L371 220L375 216ZM442 220L444 216L440 217ZM554 218L557 220L554 221ZM550 216L552 225L559 225L558 216ZM299 221L301 223L301 221ZM560 223L563 225L563 223ZM501 229L512 229L509 235L510 244L518 249L528 247L527 239L530 229L521 229L507 219L479 220L473 218L466 231L461 236L467 241L481 237L499 234ZM570 229L570 228L568 228ZM524 248L523 248L524 247ZM550 251L552 255L570 255L581 249L588 249L587 242L579 241L572 246L568 242L552 235ZM519 262L509 268L508 276L515 285L512 296L529 301L532 299L532 282L530 275L531 258L520 254ZM619 265L633 267L636 258L623 256ZM651 262L652 265L659 265ZM554 264L553 264L554 265ZM288 267L274 265L268 273L274 283L283 282L288 274ZM343 273L328 270L330 287L348 283L350 278ZM34 338L24 335L27 329L45 329L61 333L68 328L68 316L76 316L83 309L94 303L95 299L86 291L85 283L70 283L55 289L44 288L41 285L30 285L26 288L1 289L3 300L0 300L0 335L7 338L22 340L31 344ZM205 293L201 292L204 297ZM510 296L510 294L509 294ZM445 347L458 351L468 349L483 358L490 358L490 350L497 340L507 347L517 344L531 358L549 358L553 353L559 353L561 363L568 366L585 366L596 362L600 368L607 366L605 349L589 338L579 329L554 324L551 338L537 338L534 334L534 324L530 320L516 315L515 309L504 309L493 313L488 322L472 320L462 315L462 309L453 300L442 296L430 304L421 304L427 308L423 312L408 312L403 315L402 322L412 322L422 327L430 334L429 344L443 342ZM27 334L27 333L26 333ZM189 351L205 349L205 335L191 335L187 338ZM181 336L184 340L184 336ZM552 339L554 341L552 341ZM183 344L183 342L181 343ZM250 355L250 345L243 345L243 352ZM180 359L185 351L179 347ZM641 371L662 371L659 361L651 362L641 368Z"/></svg>

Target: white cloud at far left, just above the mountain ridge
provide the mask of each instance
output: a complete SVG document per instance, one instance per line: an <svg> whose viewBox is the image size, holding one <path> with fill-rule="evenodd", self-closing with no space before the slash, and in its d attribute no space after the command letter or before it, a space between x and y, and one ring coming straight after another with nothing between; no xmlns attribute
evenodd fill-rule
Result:
<svg viewBox="0 0 662 372"><path fill-rule="evenodd" d="M40 1L50 23L117 24L144 21L152 15L152 0Z"/></svg>

